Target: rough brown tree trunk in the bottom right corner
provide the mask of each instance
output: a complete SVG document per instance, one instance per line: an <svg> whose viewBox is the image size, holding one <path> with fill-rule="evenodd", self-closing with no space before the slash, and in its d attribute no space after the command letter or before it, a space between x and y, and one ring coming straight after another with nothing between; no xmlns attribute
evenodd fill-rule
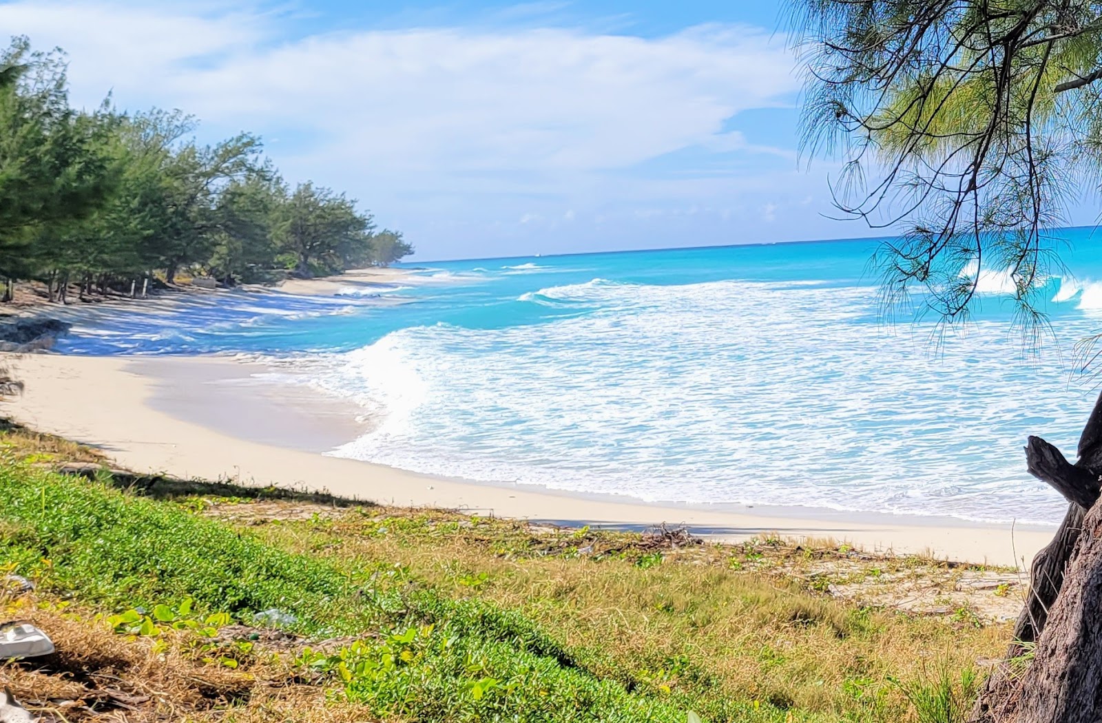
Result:
<svg viewBox="0 0 1102 723"><path fill-rule="evenodd" d="M1102 720L1102 505L1083 519L1063 580L1020 681L1015 723Z"/></svg>

